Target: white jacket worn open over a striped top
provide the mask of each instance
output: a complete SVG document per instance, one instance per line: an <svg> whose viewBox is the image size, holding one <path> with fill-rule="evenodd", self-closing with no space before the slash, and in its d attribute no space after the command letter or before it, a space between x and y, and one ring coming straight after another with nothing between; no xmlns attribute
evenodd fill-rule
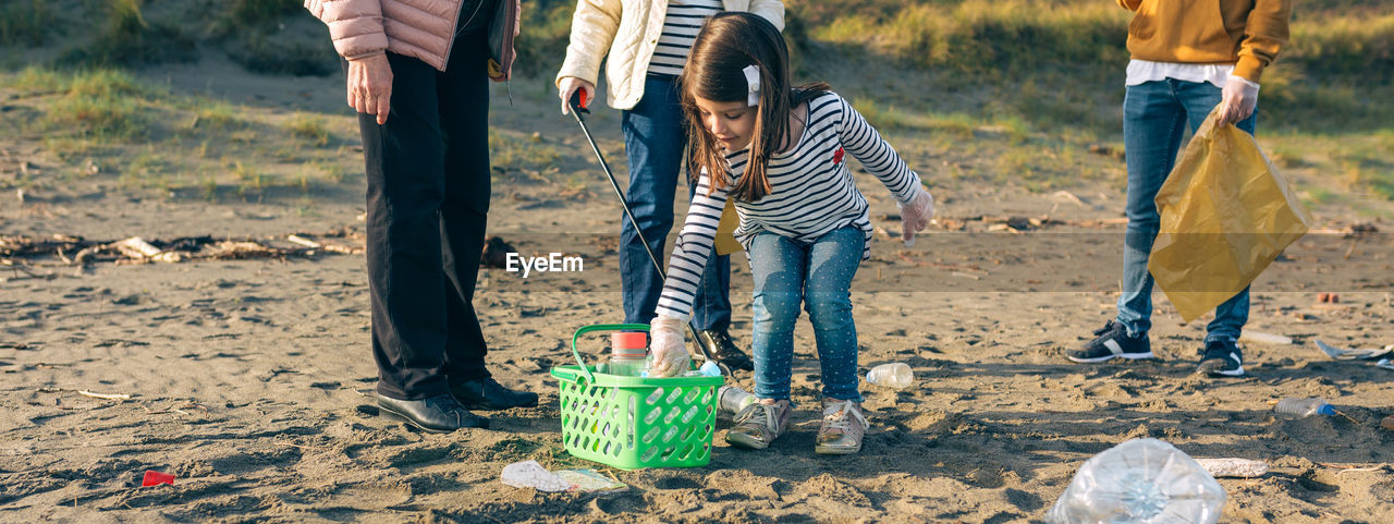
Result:
<svg viewBox="0 0 1394 524"><path fill-rule="evenodd" d="M783 31L782 0L722 0L726 11L754 13ZM572 15L572 43L556 74L597 84L601 60L609 92L605 100L615 109L633 109L644 96L644 77L664 32L668 0L577 0Z"/></svg>

